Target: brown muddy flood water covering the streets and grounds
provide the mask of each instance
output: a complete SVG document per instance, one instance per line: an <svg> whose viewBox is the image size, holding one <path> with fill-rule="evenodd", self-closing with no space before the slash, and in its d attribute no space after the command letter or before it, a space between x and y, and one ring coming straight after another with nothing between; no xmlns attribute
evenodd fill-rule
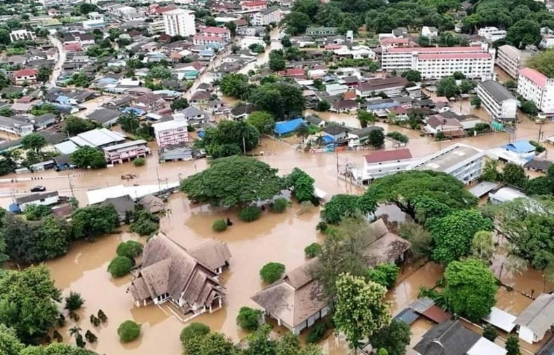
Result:
<svg viewBox="0 0 554 355"><path fill-rule="evenodd" d="M353 116L326 115L325 120L352 120ZM506 144L508 134L497 133L485 137L472 137L457 141L446 141L436 144L427 137L419 137L419 133L405 130L399 127L387 127L379 123L386 130L398 130L409 135L408 148L416 157L438 151L458 141L477 146L479 148L491 148ZM545 137L554 134L554 125L545 125L543 130ZM524 121L518 129L518 139L532 139L538 132L538 126ZM179 181L185 176L205 169L205 160L191 162L170 162L158 164L156 149L151 146L153 156L147 159L147 164L135 167L130 163L118 165L97 171L74 170L71 172L42 172L34 175L4 176L0 180L0 205L8 207L13 197L28 192L32 186L41 184L48 190L58 190L61 195L71 196L79 200L81 206L85 206L86 190L119 184L133 185L148 183L164 183L165 181ZM550 156L554 149L549 147ZM337 165L346 162L363 164L363 155L372 151L357 151L345 153L319 153L309 154L295 151L295 147L273 139L262 139L257 148L259 160L279 169L280 174L288 174L295 167L300 167L316 180L316 186L325 191L328 196L337 193L363 193L362 188L347 183L337 178ZM137 174L133 181L122 181L121 174L132 172ZM31 178L41 178L36 181ZM11 181L18 179L18 181ZM203 314L194 321L208 324L212 330L223 332L235 342L241 340L245 334L236 326L236 315L242 306L255 307L250 296L264 287L259 279L259 269L269 261L283 263L290 271L304 263L304 247L312 242L320 241L320 235L316 232L316 224L319 220L319 208L313 207L309 211L300 213L300 208L294 204L284 214L272 214L264 212L259 221L254 223L242 223L236 217L236 211L211 209L208 206L191 204L187 197L176 193L168 202L170 213L161 221L161 230L175 239L184 247L196 246L204 239L217 238L227 242L232 254L231 265L222 275L222 281L227 288L227 299L223 309L213 314ZM379 214L389 222L391 230L395 230L398 223L405 221L406 217L396 207L381 207ZM386 215L386 216L385 216ZM229 216L234 225L229 230L216 234L211 225L216 218ZM65 342L74 342L67 329L75 324L83 329L83 333L90 329L98 336L96 344L88 344L99 354L133 354L133 355L177 355L182 349L179 334L184 324L175 316L168 314L160 307L150 305L136 308L131 302L130 295L126 293L129 277L112 279L107 272L107 265L116 251L119 242L134 239L142 243L145 238L137 237L126 232L114 233L99 238L96 242L79 242L73 244L69 253L56 260L50 260L46 265L55 279L55 284L63 290L81 293L86 300L85 307L81 310L81 321L73 322L68 319L65 329L62 329ZM406 266L403 269L398 286L387 295L387 300L393 302L393 315L400 312L415 298L419 286L433 286L442 277L442 267L434 263L427 263L422 267ZM521 276L509 275L504 272L502 276L506 284L514 282L516 290L511 293L499 291L499 307L518 314L529 303L529 298L518 295L518 291L529 293L531 289L537 293L543 290L543 279L539 272L528 271ZM551 285L547 285L551 287ZM90 314L102 309L107 314L109 321L98 328L94 328L88 318ZM130 344L121 344L116 334L119 323L126 319L133 319L142 323L142 335L139 340ZM417 321L414 324L414 337L424 333L430 326L425 321ZM276 329L278 332L283 329ZM418 337L419 339L419 337ZM322 342L322 347L327 354L344 355L351 354L344 340L337 340L333 335Z"/></svg>

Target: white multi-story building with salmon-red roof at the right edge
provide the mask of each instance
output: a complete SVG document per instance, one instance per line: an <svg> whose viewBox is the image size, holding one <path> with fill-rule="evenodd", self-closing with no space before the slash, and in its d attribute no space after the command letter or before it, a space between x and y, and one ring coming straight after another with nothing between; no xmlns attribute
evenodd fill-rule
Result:
<svg viewBox="0 0 554 355"><path fill-rule="evenodd" d="M518 94L534 102L545 116L554 116L554 78L535 69L523 68L518 77Z"/></svg>

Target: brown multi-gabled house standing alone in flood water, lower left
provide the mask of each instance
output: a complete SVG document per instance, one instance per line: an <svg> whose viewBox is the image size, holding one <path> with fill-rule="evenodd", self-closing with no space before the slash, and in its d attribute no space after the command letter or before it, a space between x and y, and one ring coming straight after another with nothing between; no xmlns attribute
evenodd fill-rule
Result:
<svg viewBox="0 0 554 355"><path fill-rule="evenodd" d="M221 308L225 298L212 267L161 233L144 246L142 263L127 291L137 307L171 302L183 321Z"/></svg>

